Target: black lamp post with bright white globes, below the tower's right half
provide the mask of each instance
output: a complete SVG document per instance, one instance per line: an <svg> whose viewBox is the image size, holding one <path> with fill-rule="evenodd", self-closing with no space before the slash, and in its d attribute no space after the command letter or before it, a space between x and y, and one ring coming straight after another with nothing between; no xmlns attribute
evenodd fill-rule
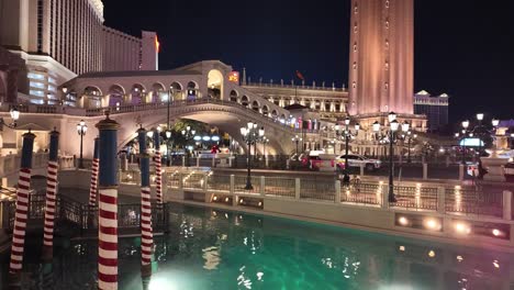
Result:
<svg viewBox="0 0 514 290"><path fill-rule="evenodd" d="M386 134L380 133L380 123L377 121L373 123L373 131L376 132L377 136L381 140L389 140L389 202L396 202L396 198L394 197L394 163L393 163L393 155L394 155L394 147L393 143L398 138L396 133L400 129L400 123L396 121L396 114L394 112L389 113L389 132ZM409 132L410 124L403 123L402 131L404 133Z"/></svg>

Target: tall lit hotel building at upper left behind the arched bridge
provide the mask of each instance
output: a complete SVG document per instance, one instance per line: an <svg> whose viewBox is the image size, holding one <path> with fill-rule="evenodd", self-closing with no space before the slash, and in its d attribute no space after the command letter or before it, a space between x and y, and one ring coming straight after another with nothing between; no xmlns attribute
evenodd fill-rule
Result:
<svg viewBox="0 0 514 290"><path fill-rule="evenodd" d="M58 103L57 86L77 75L157 69L147 32L134 37L105 27L103 20L101 0L2 0L0 45L25 60L30 102ZM154 47L150 56L145 55L148 46ZM115 51L123 57L114 57Z"/></svg>

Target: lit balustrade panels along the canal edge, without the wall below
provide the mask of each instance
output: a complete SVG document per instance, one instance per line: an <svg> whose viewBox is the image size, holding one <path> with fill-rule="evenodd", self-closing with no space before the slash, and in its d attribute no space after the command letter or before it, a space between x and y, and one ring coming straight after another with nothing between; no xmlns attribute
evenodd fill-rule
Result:
<svg viewBox="0 0 514 290"><path fill-rule="evenodd" d="M222 194L255 194L269 198L300 199L351 203L356 205L390 207L407 211L437 211L449 214L477 214L504 217L504 192L481 191L476 188L445 188L426 185L394 186L395 202L383 204L389 191L382 182L310 180L291 177L252 176L252 189L245 189L245 175L212 175L212 172L169 174L171 189L200 190ZM205 183L206 182L206 183ZM337 188L337 186L340 188Z"/></svg>

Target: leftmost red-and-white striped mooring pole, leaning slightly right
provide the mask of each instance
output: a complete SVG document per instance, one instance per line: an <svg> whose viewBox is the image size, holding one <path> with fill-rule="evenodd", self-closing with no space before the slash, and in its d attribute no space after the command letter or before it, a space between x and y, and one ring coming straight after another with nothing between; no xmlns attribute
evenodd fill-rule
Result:
<svg viewBox="0 0 514 290"><path fill-rule="evenodd" d="M25 246L26 220L29 213L29 194L31 190L32 150L35 135L23 134L22 158L20 176L18 178L16 209L14 214L14 228L12 233L11 261L9 264L9 285L20 286L20 274L23 268L23 252Z"/></svg>

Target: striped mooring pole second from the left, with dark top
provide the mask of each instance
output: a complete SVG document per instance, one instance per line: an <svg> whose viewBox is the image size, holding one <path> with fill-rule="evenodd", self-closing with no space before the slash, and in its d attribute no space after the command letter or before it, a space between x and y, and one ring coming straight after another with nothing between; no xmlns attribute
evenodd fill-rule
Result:
<svg viewBox="0 0 514 290"><path fill-rule="evenodd" d="M45 200L45 223L43 236L43 260L49 261L53 258L54 247L54 220L55 199L57 193L57 150L59 147L59 132L55 129L51 132L51 145L48 156L48 168L46 174L46 200Z"/></svg>

